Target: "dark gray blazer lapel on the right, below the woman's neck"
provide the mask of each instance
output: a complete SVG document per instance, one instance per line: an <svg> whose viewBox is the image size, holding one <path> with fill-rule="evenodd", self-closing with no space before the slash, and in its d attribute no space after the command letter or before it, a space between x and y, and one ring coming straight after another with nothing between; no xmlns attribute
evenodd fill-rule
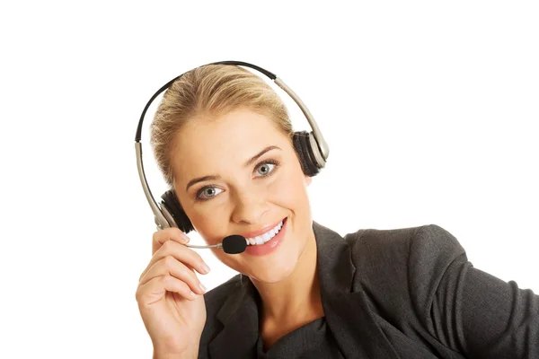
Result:
<svg viewBox="0 0 539 359"><path fill-rule="evenodd" d="M361 290L353 292L356 267L340 234L314 223L318 274L326 323L347 358L399 358L376 323Z"/></svg>

